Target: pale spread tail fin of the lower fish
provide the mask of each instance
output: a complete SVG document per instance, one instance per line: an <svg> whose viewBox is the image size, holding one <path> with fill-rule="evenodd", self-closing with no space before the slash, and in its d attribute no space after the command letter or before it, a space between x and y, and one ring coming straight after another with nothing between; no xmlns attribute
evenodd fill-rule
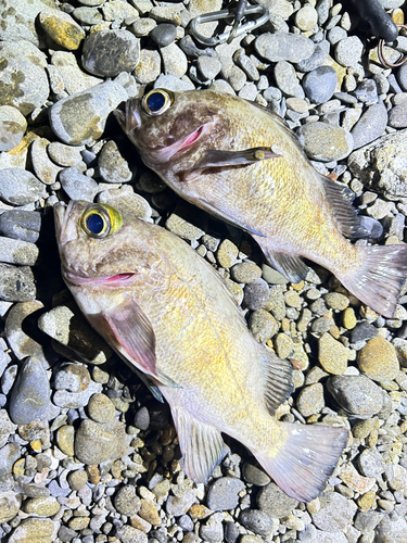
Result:
<svg viewBox="0 0 407 543"><path fill-rule="evenodd" d="M348 431L330 426L284 424L289 438L276 456L257 454L257 460L282 491L310 502L325 489L346 446Z"/></svg>

